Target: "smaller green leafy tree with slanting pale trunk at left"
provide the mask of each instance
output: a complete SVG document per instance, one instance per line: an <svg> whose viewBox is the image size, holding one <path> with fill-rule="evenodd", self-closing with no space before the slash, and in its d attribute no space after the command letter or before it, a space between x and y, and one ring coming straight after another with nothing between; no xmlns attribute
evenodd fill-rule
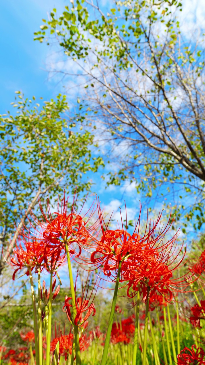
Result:
<svg viewBox="0 0 205 365"><path fill-rule="evenodd" d="M66 117L65 96L58 95L56 101L45 101L40 107L34 104L35 97L24 100L16 93L12 103L16 115L0 116L0 273L19 227L30 209L37 209L38 199L45 207L48 192L55 204L64 188L66 193L73 193L76 186L78 192L89 191L91 181L84 178L85 173L103 164L100 157L91 156L94 136L81 130L83 118Z"/></svg>

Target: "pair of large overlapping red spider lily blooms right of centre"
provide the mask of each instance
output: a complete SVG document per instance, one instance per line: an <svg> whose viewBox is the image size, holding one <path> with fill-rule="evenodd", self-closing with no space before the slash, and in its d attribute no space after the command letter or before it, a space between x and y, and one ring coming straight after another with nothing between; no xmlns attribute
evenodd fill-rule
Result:
<svg viewBox="0 0 205 365"><path fill-rule="evenodd" d="M140 213L142 207L140 206ZM162 296L164 301L173 299L173 290L181 291L187 288L192 273L186 277L174 278L173 272L180 266L185 257L182 247L177 247L177 233L169 241L164 241L165 234L171 224L160 226L162 213L159 213L156 222L148 224L142 235L140 230L140 214L131 235L127 228L109 230L105 224L98 204L99 221L101 224L101 238L93 239L94 251L90 261L94 268L100 268L108 277L116 277L116 271L121 264L120 281L128 282L127 295L134 297L140 290L140 295L146 300ZM171 222L172 223L172 222ZM126 223L127 227L127 223ZM89 261L87 261L89 263ZM149 288L149 290L148 290Z"/></svg>

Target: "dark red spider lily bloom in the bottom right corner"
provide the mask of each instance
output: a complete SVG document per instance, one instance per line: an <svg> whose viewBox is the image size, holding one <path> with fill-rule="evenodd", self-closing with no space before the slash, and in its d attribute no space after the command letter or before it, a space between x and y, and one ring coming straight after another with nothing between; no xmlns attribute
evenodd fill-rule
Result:
<svg viewBox="0 0 205 365"><path fill-rule="evenodd" d="M201 347L192 345L192 349L185 347L180 354L177 355L178 365L204 365L205 364L205 353Z"/></svg>

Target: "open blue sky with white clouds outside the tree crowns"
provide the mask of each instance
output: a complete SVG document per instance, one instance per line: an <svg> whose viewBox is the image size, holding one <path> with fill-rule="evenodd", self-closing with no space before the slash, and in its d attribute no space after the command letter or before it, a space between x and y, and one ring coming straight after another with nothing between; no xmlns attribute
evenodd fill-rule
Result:
<svg viewBox="0 0 205 365"><path fill-rule="evenodd" d="M183 1L182 24L183 32L194 26L201 27L205 19L203 0ZM69 1L68 1L69 3ZM101 0L105 4L105 0ZM20 90L28 98L32 95L43 97L44 100L55 98L62 89L55 78L48 79L46 64L52 61L52 51L46 44L33 41L33 33L39 30L42 18L47 18L53 7L58 14L67 4L64 0L7 0L1 2L0 12L0 113L11 110L10 103L14 100L15 91ZM192 11L191 11L192 10ZM188 28L187 28L188 26ZM134 218L138 212L140 197L136 193L134 184L125 183L122 187L109 187L105 190L105 182L100 179L101 172L93 175L95 179L94 191L98 187L98 194L102 205L107 210L117 211L127 203L128 220ZM146 207L146 203L145 203ZM161 204L155 206L158 211ZM119 213L116 215L119 218Z"/></svg>

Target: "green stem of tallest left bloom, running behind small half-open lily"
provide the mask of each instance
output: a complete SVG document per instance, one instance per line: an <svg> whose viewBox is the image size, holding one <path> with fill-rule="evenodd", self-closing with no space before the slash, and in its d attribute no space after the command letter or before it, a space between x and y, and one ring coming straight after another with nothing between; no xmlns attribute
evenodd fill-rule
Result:
<svg viewBox="0 0 205 365"><path fill-rule="evenodd" d="M69 254L69 249L68 249L67 243L65 244L65 247L66 247L67 266L68 266L69 279L70 279L70 291L71 291L71 298L72 298L73 320L75 320L76 315L77 315L76 294L75 294L75 289L74 289L74 284L73 284L73 273L72 273L71 262L70 262L70 254ZM81 365L78 326L76 324L73 324L73 327L74 327L74 338L75 338L75 348L76 348L76 365Z"/></svg>

